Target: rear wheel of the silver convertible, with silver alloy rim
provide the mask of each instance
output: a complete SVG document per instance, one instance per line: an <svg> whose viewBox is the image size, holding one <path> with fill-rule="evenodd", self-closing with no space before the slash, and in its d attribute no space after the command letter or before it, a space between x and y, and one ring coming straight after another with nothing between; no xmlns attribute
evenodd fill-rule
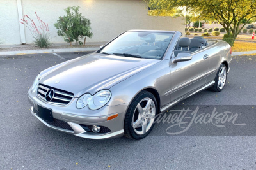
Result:
<svg viewBox="0 0 256 170"><path fill-rule="evenodd" d="M214 79L215 83L209 90L214 92L221 92L227 81L227 67L225 64L221 64Z"/></svg>

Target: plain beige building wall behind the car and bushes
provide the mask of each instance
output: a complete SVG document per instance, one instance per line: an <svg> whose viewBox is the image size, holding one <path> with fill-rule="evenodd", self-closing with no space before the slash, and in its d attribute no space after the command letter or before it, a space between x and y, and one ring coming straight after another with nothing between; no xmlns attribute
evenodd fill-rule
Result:
<svg viewBox="0 0 256 170"><path fill-rule="evenodd" d="M33 43L30 32L19 20L23 15L36 19L35 12L49 24L52 42L63 43L53 24L65 15L68 6L80 6L80 12L91 20L94 36L87 42L109 41L129 29L184 32L183 17L150 17L141 0L1 0L1 44Z"/></svg>

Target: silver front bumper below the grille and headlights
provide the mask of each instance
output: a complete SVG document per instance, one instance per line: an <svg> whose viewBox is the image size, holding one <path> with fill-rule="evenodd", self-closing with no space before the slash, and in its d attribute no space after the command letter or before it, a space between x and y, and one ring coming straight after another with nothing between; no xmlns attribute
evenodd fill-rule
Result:
<svg viewBox="0 0 256 170"><path fill-rule="evenodd" d="M76 103L76 99L71 101L70 104L65 107L54 106L38 99L38 97L33 95L30 90L28 92L28 101L31 104L31 114L51 129L67 132L69 134L88 139L109 139L124 135L124 115L128 104L120 104L118 106L104 106L103 108L94 111L86 110L86 108L78 110L72 108L74 107L74 103ZM38 105L52 109L53 117L57 120L65 122L65 124L67 123L71 129L51 125L46 120L38 117L38 115L36 115ZM85 113L87 113L87 115ZM109 116L115 115L116 113L118 114L118 117L112 120L107 120ZM90 116L88 114L90 114ZM107 127L110 129L110 132L94 133L91 131L86 131L86 129L83 128L83 125L97 125L100 127Z"/></svg>

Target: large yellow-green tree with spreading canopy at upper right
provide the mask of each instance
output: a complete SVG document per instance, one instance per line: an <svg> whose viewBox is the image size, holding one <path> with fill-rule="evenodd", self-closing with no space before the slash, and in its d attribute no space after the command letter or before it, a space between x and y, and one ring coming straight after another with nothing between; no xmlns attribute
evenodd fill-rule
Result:
<svg viewBox="0 0 256 170"><path fill-rule="evenodd" d="M143 0L148 3L151 9L149 14L163 15L166 11L175 13L180 7L186 9L193 16L198 16L202 20L219 22L227 31L229 37L234 42L240 30L256 18L255 0ZM172 13L168 13L172 16ZM244 22L244 23L243 23ZM241 29L239 25L241 24ZM232 33L232 34L231 34Z"/></svg>

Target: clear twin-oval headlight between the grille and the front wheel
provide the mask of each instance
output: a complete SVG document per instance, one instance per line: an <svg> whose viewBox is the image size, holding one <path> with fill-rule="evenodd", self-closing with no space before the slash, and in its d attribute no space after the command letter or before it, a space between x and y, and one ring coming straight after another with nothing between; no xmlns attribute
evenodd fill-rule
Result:
<svg viewBox="0 0 256 170"><path fill-rule="evenodd" d="M77 100L76 106L81 109L88 105L90 110L97 110L105 106L111 98L111 92L109 90L101 90L95 95L84 94Z"/></svg>

